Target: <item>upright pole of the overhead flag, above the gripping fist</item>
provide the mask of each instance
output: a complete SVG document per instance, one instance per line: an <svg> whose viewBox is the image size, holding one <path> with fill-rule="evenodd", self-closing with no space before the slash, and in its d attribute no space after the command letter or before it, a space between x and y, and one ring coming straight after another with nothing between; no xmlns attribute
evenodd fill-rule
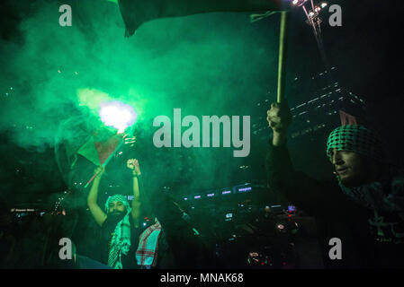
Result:
<svg viewBox="0 0 404 287"><path fill-rule="evenodd" d="M288 13L281 12L281 31L279 36L279 61L278 61L278 91L277 101L281 103L284 99L284 78L286 65L286 50L287 50L287 25Z"/></svg>

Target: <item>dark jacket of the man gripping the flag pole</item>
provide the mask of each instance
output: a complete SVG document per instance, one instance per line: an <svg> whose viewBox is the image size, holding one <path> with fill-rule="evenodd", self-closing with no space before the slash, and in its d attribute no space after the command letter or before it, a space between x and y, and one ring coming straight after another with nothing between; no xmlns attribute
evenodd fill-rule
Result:
<svg viewBox="0 0 404 287"><path fill-rule="evenodd" d="M337 179L320 181L294 170L287 148L272 143L266 154L266 170L269 187L275 194L317 219L327 268L404 267L403 240L389 239L389 224L370 224L378 222L374 210L346 196ZM404 226L398 213L384 211L378 216L379 222L382 219ZM381 229L385 231L383 237ZM328 257L328 241L332 238L342 241L341 260Z"/></svg>

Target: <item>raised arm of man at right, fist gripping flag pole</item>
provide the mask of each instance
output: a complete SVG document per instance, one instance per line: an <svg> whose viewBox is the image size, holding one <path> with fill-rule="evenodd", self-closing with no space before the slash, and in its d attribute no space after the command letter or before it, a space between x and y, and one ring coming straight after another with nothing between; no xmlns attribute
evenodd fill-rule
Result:
<svg viewBox="0 0 404 287"><path fill-rule="evenodd" d="M342 203L347 206L336 182L317 180L294 170L286 147L287 131L292 122L287 103L273 103L266 119L274 131L265 161L268 184L274 194L311 215L337 212Z"/></svg>

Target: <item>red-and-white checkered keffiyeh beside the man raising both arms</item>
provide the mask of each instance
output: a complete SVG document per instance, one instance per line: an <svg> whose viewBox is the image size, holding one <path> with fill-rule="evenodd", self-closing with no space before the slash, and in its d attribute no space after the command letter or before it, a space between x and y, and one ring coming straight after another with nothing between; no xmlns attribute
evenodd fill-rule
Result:
<svg viewBox="0 0 404 287"><path fill-rule="evenodd" d="M159 222L148 227L140 235L139 247L136 250L136 261L139 266L156 266L158 239L161 233L161 225Z"/></svg>

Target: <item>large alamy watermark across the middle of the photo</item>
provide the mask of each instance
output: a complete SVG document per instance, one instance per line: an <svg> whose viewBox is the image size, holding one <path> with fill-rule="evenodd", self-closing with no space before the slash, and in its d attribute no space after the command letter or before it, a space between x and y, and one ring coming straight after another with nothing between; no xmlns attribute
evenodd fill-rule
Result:
<svg viewBox="0 0 404 287"><path fill-rule="evenodd" d="M181 109L174 109L173 121L174 123L171 125L169 117L155 117L153 126L160 126L153 135L153 143L157 148L220 147L221 137L222 147L231 147L232 145L239 149L233 151L234 157L246 157L250 152L250 116L243 116L241 138L239 116L202 116L201 126L198 117L186 116L181 118ZM222 136L220 136L220 126L222 127ZM182 127L187 127L187 129L182 132Z"/></svg>

